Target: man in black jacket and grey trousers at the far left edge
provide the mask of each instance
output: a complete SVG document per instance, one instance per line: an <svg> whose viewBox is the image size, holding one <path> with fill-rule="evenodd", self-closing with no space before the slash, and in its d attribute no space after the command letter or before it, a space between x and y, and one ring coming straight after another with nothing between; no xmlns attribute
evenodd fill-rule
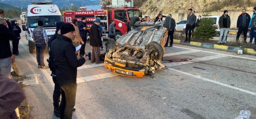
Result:
<svg viewBox="0 0 256 119"><path fill-rule="evenodd" d="M0 9L0 17L4 17L4 11ZM0 18L0 74L10 78L12 62L15 61L15 55L18 50L18 38L7 28L7 23ZM10 40L13 48L11 52Z"/></svg>

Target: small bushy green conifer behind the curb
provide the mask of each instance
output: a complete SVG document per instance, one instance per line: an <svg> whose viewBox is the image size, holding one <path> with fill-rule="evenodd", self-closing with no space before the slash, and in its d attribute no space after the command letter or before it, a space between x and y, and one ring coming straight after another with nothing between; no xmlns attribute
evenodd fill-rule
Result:
<svg viewBox="0 0 256 119"><path fill-rule="evenodd" d="M192 35L200 40L209 40L213 39L216 35L216 27L214 26L214 21L211 18L204 17L199 23L199 27L196 27Z"/></svg>

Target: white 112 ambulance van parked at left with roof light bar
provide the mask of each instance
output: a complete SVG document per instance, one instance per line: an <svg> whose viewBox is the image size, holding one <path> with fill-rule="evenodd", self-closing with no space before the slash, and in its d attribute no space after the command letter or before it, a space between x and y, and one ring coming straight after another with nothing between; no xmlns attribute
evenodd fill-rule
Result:
<svg viewBox="0 0 256 119"><path fill-rule="evenodd" d="M26 25L22 29L26 31L29 52L35 53L35 41L31 37L34 28L37 27L39 20L43 21L43 28L46 30L48 39L55 34L56 22L63 21L60 9L52 2L32 2L28 5L26 12Z"/></svg>

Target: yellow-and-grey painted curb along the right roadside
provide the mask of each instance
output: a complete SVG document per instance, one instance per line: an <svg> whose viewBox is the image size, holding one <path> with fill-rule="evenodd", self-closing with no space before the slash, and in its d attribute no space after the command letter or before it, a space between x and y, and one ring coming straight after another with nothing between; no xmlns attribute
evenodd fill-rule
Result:
<svg viewBox="0 0 256 119"><path fill-rule="evenodd" d="M174 39L173 42L180 43L180 44L193 45L193 46L201 47L201 48L225 50L225 51L228 51L228 52L237 52L237 50L243 50L244 53L256 55L256 51L254 51L251 48L241 48L241 47L233 47L233 46L227 46L227 45L193 42L193 41L184 42L183 40L176 40L176 39Z"/></svg>

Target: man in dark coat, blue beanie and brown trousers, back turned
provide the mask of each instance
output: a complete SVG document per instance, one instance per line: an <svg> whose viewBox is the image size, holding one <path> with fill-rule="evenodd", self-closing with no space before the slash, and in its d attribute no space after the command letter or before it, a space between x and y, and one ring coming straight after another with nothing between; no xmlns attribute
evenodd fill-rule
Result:
<svg viewBox="0 0 256 119"><path fill-rule="evenodd" d="M96 64L103 63L102 61L100 61L100 46L102 45L102 42L99 25L100 19L97 18L90 29L90 45L92 46L91 63L96 62Z"/></svg>

